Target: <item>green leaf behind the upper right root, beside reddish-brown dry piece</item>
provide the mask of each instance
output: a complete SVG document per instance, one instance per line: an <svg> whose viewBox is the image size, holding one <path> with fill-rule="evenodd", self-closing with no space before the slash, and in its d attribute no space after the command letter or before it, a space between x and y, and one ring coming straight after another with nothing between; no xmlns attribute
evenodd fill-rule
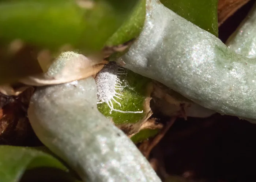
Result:
<svg viewBox="0 0 256 182"><path fill-rule="evenodd" d="M163 5L218 37L218 0L160 0Z"/></svg>

